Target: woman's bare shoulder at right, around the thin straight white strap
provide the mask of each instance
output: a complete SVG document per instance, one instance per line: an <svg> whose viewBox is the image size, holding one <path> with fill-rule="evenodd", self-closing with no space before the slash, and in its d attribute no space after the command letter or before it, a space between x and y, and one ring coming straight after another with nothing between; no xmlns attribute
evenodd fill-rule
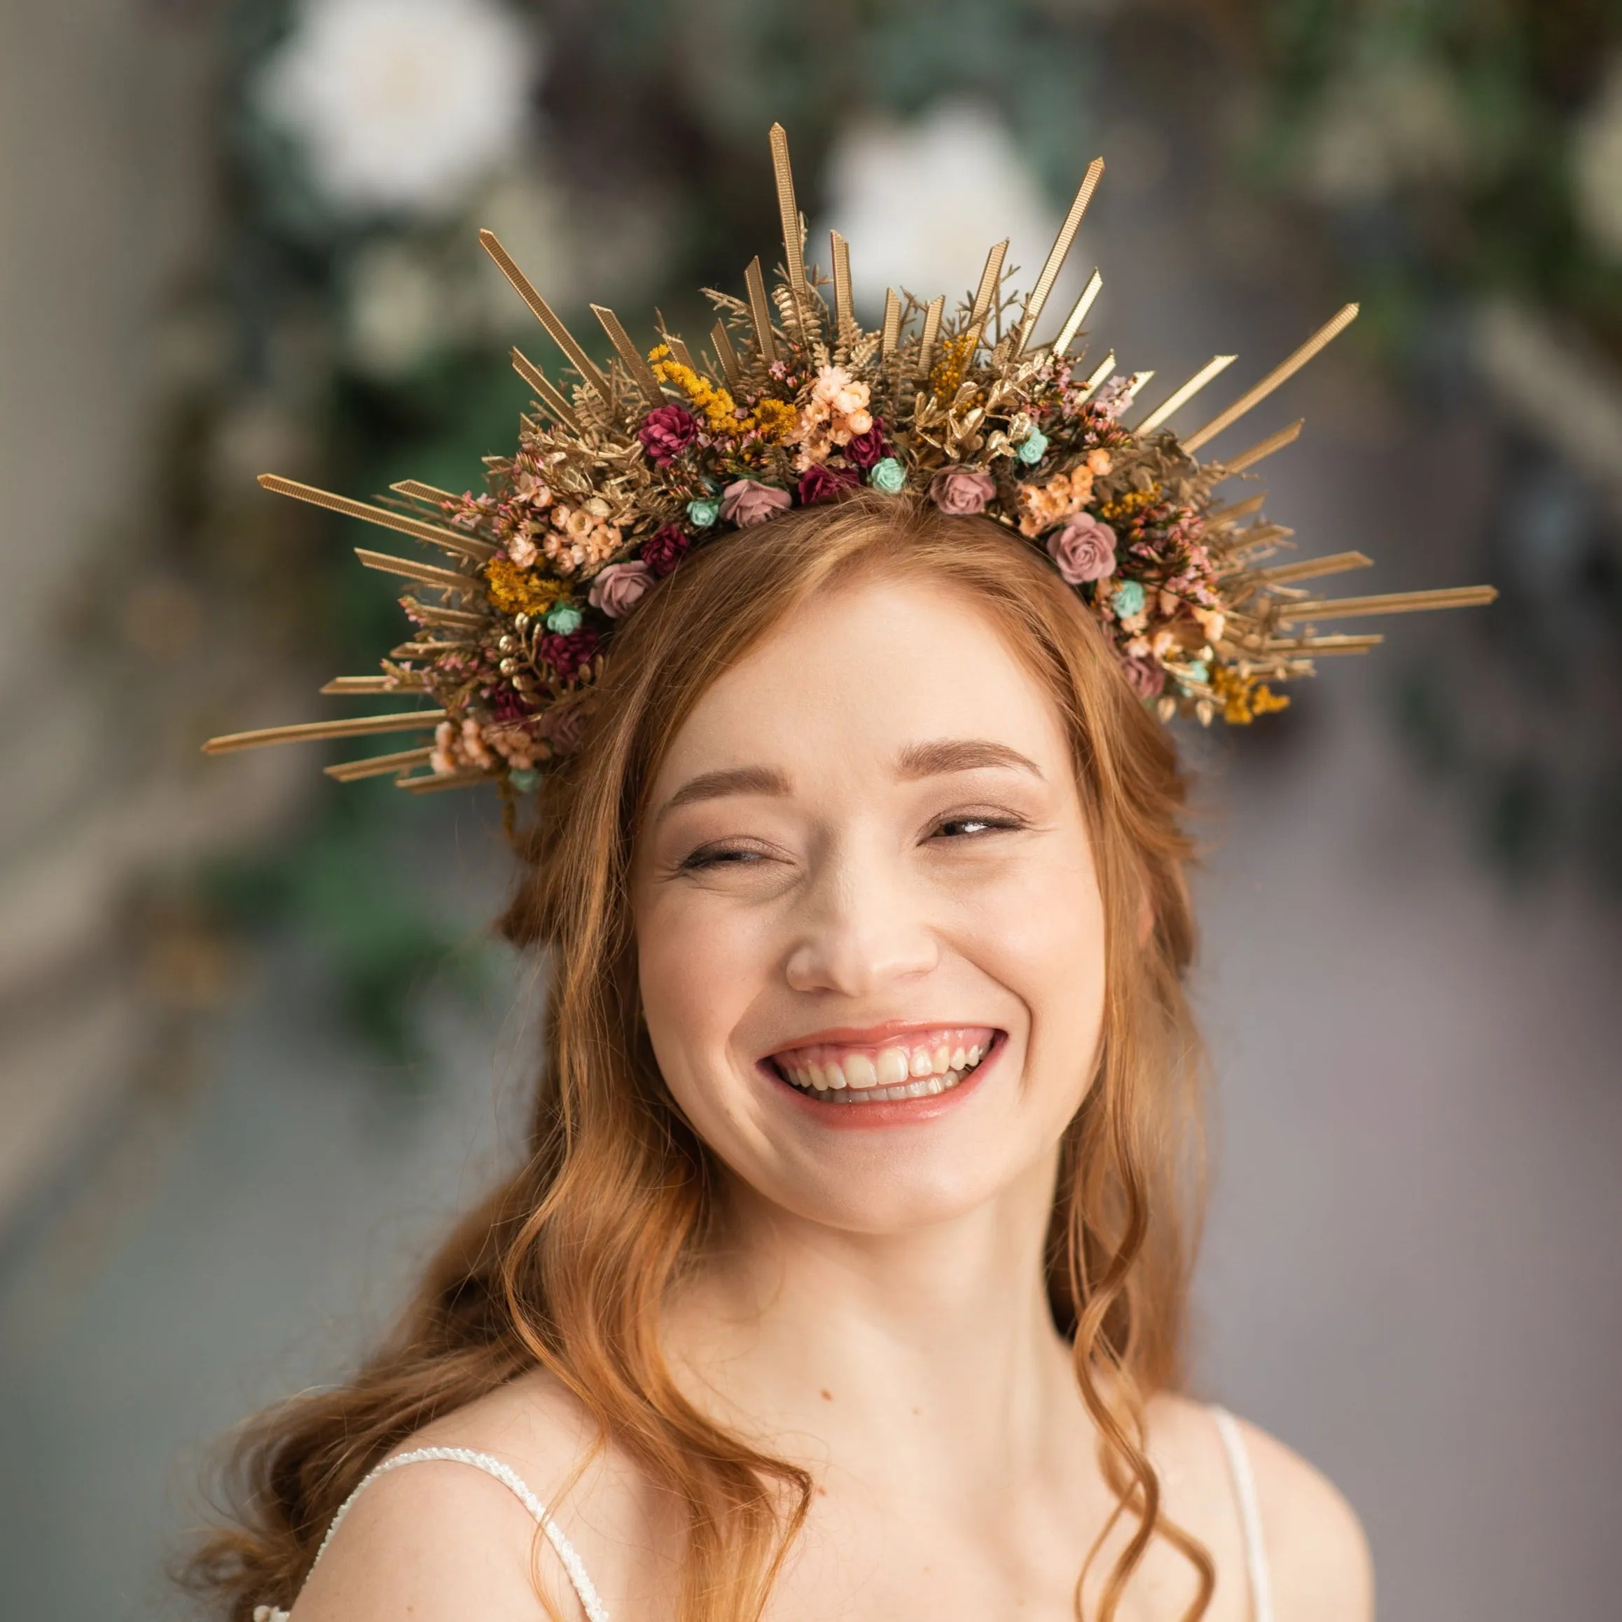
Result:
<svg viewBox="0 0 1622 1622"><path fill-rule="evenodd" d="M1226 1473L1212 1410L1187 1398L1171 1401L1176 1406L1166 1419L1181 1445L1202 1445L1204 1429L1204 1447ZM1374 1573L1356 1512L1299 1453L1254 1424L1238 1424L1255 1481L1278 1622L1371 1622Z"/></svg>

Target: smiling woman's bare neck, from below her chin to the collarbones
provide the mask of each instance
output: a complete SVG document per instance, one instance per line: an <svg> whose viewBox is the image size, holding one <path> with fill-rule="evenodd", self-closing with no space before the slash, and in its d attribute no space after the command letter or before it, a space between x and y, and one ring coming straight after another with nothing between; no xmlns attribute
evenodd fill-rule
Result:
<svg viewBox="0 0 1622 1622"><path fill-rule="evenodd" d="M1053 1174L886 1234L735 1189L725 1238L670 1315L673 1361L725 1424L899 1468L908 1453L928 1468L920 1448L949 1450L954 1474L1028 1468L1079 1411L1043 1280Z"/></svg>

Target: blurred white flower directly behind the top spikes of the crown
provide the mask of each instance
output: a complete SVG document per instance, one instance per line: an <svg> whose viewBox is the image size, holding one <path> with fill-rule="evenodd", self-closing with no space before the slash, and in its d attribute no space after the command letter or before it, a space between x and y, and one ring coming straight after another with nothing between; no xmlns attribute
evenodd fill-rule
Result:
<svg viewBox="0 0 1622 1622"><path fill-rule="evenodd" d="M1004 123L973 102L947 102L915 123L863 123L829 156L830 224L850 242L850 274L865 311L884 289L920 298L946 294L947 307L973 297L986 250L1009 237L1004 268L1028 287L1058 230ZM827 232L806 258L829 268Z"/></svg>

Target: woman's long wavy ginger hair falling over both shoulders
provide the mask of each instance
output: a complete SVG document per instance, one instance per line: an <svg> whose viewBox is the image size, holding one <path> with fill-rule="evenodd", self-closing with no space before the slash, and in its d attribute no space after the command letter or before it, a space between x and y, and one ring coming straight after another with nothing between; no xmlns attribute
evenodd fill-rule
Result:
<svg viewBox="0 0 1622 1622"><path fill-rule="evenodd" d="M1204 1199L1174 749L1033 548L988 519L874 493L706 545L620 629L586 744L550 777L522 835L501 921L551 962L527 1160L461 1221L383 1350L345 1384L240 1435L240 1513L188 1568L217 1616L250 1622L255 1604L290 1604L368 1470L537 1367L595 1421L599 1445L631 1455L684 1510L680 1622L762 1616L813 1481L689 1403L660 1346L662 1306L704 1255L725 1182L639 1017L629 878L663 749L701 694L796 605L866 576L962 592L1051 694L1069 736L1105 902L1106 996L1096 1075L1061 1145L1048 1294L1116 1494L1075 1609L1085 1586L1085 1609L1109 1622L1152 1539L1165 1538L1197 1577L1187 1619L1204 1616L1212 1562L1161 1507L1144 1418L1147 1400L1181 1379ZM1103 1568L1106 1539L1116 1552Z"/></svg>

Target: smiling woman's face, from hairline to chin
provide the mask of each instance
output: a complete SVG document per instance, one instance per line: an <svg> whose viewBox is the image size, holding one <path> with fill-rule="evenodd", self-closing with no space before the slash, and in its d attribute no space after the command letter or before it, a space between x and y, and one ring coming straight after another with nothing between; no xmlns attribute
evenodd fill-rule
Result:
<svg viewBox="0 0 1622 1622"><path fill-rule="evenodd" d="M1103 908L1054 704L965 597L858 582L722 676L654 783L634 903L660 1071L759 1195L860 1233L1046 1195Z"/></svg>

